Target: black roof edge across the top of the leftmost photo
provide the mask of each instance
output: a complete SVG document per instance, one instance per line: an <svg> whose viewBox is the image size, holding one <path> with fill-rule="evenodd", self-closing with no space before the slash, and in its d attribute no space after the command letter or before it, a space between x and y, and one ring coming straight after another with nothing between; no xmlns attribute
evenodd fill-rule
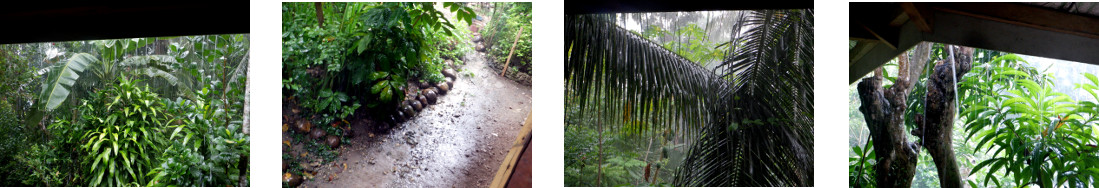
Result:
<svg viewBox="0 0 1099 188"><path fill-rule="evenodd" d="M248 1L27 1L0 7L0 44L248 33Z"/></svg>

